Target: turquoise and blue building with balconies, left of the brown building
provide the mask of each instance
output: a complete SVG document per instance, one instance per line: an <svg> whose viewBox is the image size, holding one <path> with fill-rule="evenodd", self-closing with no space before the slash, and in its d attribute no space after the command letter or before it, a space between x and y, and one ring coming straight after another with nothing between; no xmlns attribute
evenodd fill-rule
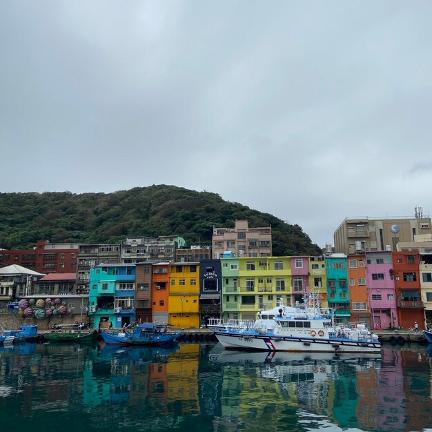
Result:
<svg viewBox="0 0 432 432"><path fill-rule="evenodd" d="M99 264L90 270L88 315L94 327L135 323L135 265Z"/></svg>

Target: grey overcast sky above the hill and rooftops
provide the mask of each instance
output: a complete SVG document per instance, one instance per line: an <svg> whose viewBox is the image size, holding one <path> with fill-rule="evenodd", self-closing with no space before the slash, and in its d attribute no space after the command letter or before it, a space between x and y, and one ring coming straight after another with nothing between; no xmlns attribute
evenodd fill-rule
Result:
<svg viewBox="0 0 432 432"><path fill-rule="evenodd" d="M430 214L431 1L1 1L1 192L172 184L333 243Z"/></svg>

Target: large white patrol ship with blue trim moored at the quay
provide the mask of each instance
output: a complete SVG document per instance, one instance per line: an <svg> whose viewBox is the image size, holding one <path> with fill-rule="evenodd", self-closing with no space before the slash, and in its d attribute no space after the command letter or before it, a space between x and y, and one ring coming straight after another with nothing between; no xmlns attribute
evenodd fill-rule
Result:
<svg viewBox="0 0 432 432"><path fill-rule="evenodd" d="M366 325L336 326L333 311L320 308L318 295L307 294L304 303L279 305L258 313L258 320L228 320L208 325L225 348L263 351L380 353L381 343Z"/></svg>

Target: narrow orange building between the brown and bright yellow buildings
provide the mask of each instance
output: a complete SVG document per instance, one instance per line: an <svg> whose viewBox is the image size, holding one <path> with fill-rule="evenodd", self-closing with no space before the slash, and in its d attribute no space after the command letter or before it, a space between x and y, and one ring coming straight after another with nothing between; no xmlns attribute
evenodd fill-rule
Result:
<svg viewBox="0 0 432 432"><path fill-rule="evenodd" d="M168 295L170 290L170 262L153 264L152 316L153 322L168 324Z"/></svg>

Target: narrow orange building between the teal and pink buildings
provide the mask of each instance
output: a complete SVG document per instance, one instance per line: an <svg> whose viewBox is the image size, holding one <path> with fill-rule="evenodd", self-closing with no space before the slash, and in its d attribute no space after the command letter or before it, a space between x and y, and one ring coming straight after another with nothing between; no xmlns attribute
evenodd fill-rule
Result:
<svg viewBox="0 0 432 432"><path fill-rule="evenodd" d="M366 262L364 254L348 255L348 285L351 321L371 324L368 291L366 289ZM375 324L374 324L375 325Z"/></svg>

